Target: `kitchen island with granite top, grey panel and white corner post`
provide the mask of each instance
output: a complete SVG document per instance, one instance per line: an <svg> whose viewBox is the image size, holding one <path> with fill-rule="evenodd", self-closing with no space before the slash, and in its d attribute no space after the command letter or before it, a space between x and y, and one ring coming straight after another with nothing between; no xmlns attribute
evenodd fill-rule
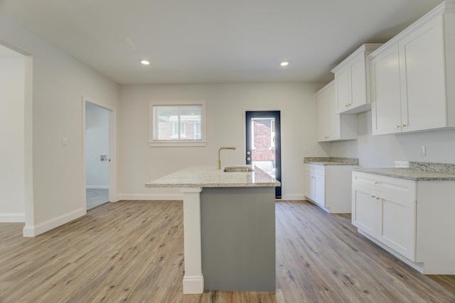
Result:
<svg viewBox="0 0 455 303"><path fill-rule="evenodd" d="M146 183L183 193L184 294L275 291L274 187L280 183L251 168L194 166Z"/></svg>

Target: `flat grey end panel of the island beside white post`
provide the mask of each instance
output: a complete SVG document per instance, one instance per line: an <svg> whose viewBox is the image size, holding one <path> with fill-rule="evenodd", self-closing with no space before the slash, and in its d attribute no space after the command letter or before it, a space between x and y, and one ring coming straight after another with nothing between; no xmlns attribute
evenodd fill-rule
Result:
<svg viewBox="0 0 455 303"><path fill-rule="evenodd" d="M200 192L205 290L275 291L274 187Z"/></svg>

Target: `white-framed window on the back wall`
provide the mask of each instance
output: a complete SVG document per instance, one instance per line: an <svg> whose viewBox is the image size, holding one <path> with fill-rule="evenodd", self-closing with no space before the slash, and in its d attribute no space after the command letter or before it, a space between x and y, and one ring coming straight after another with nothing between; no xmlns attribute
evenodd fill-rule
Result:
<svg viewBox="0 0 455 303"><path fill-rule="evenodd" d="M205 101L151 101L150 146L205 146Z"/></svg>

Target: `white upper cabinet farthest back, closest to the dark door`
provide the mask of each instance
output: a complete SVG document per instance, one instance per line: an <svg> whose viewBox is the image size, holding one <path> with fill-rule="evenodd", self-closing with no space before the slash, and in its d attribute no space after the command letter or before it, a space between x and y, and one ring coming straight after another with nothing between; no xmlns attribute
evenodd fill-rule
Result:
<svg viewBox="0 0 455 303"><path fill-rule="evenodd" d="M335 83L316 93L318 142L357 139L357 115L336 114Z"/></svg>

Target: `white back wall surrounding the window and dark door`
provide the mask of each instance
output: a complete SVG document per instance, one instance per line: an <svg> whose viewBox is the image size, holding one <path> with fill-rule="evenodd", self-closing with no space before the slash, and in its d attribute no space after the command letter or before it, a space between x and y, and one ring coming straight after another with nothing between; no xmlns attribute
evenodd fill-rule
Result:
<svg viewBox="0 0 455 303"><path fill-rule="evenodd" d="M303 150L327 155L330 145L316 143L316 102L321 84L186 84L122 86L119 123L119 198L177 199L178 189L146 189L144 184L191 165L216 165L218 148L222 165L245 163L245 109L278 109L282 123L282 194L303 199ZM151 148L149 101L207 101L208 144L203 148ZM326 148L324 150L323 148ZM168 196L166 196L168 194Z"/></svg>

